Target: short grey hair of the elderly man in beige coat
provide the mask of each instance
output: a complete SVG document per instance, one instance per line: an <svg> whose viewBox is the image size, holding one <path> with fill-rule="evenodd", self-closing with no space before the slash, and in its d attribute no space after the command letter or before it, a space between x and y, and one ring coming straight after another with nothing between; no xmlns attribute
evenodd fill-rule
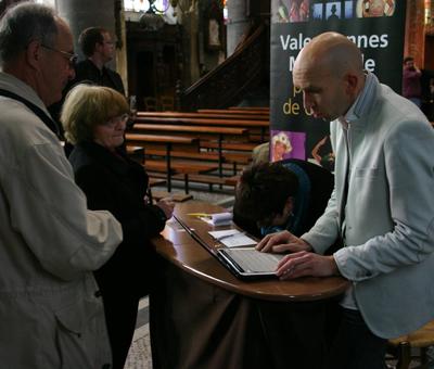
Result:
<svg viewBox="0 0 434 369"><path fill-rule="evenodd" d="M14 61L31 41L54 47L56 15L50 7L22 2L7 10L0 20L0 64Z"/></svg>

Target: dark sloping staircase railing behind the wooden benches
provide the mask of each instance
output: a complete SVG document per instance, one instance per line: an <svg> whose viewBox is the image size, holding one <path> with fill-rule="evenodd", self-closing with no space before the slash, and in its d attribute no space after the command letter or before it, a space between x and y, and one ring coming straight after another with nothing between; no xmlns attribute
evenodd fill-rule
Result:
<svg viewBox="0 0 434 369"><path fill-rule="evenodd" d="M267 73L266 26L260 25L235 52L187 90L179 92L182 111L224 109L239 103Z"/></svg>

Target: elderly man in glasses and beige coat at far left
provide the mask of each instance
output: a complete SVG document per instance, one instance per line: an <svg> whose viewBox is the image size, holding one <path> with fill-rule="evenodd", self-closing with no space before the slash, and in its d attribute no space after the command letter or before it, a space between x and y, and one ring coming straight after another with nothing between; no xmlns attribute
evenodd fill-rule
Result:
<svg viewBox="0 0 434 369"><path fill-rule="evenodd" d="M73 37L24 2L0 21L0 361L2 368L108 368L92 270L122 241L90 212L46 106L74 77Z"/></svg>

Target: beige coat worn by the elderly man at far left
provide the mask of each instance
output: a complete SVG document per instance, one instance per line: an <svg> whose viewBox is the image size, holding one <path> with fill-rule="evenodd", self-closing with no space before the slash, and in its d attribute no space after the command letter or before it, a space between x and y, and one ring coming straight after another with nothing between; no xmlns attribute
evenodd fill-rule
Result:
<svg viewBox="0 0 434 369"><path fill-rule="evenodd" d="M0 73L0 88L46 111ZM93 369L111 362L91 270L120 225L90 212L58 138L24 104L0 97L0 367Z"/></svg>

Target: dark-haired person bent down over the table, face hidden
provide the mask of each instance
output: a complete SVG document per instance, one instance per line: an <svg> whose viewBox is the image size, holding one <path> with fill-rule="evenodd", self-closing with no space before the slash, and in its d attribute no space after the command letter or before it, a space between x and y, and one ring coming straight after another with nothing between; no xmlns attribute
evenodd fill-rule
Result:
<svg viewBox="0 0 434 369"><path fill-rule="evenodd" d="M234 221L256 237L284 229L302 236L322 215L333 183L329 170L295 158L252 165L237 187Z"/></svg>

